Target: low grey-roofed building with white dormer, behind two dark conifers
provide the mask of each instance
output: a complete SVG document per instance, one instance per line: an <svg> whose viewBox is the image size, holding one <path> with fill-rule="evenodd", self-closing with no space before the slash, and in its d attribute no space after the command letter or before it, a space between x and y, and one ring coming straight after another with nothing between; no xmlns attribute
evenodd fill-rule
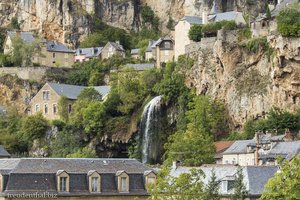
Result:
<svg viewBox="0 0 300 200"><path fill-rule="evenodd" d="M174 165L173 165L174 166ZM239 168L236 165L202 165L201 167L172 167L170 175L178 177L183 173L190 173L192 169L202 170L204 185L211 180L212 173L215 173L217 182L219 182L219 195L221 199L231 199L234 190L234 183L238 170L242 170L243 183L246 187L246 199L259 199L264 192L264 185L274 176L278 168L276 166L245 166Z"/></svg>

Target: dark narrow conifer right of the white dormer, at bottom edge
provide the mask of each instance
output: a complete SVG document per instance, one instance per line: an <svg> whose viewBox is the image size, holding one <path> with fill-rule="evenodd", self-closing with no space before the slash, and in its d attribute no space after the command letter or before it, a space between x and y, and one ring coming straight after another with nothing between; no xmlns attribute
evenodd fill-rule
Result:
<svg viewBox="0 0 300 200"><path fill-rule="evenodd" d="M238 167L235 175L232 200L244 200L247 197L247 190L244 184L243 169Z"/></svg>

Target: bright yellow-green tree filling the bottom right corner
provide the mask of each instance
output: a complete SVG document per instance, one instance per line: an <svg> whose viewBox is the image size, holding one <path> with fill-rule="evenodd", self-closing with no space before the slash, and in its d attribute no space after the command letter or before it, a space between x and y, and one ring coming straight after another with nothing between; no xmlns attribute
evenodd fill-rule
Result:
<svg viewBox="0 0 300 200"><path fill-rule="evenodd" d="M268 180L261 200L299 199L300 197L300 155L291 161L281 163L280 172Z"/></svg>

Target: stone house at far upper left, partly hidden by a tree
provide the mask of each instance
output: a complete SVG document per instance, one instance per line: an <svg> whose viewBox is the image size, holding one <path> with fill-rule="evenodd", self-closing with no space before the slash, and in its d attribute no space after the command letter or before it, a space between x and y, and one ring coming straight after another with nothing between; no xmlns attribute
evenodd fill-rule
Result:
<svg viewBox="0 0 300 200"><path fill-rule="evenodd" d="M32 32L7 31L6 38L3 43L4 54L10 54L12 52L12 41L16 36L19 36L24 42L29 44L35 40Z"/></svg>

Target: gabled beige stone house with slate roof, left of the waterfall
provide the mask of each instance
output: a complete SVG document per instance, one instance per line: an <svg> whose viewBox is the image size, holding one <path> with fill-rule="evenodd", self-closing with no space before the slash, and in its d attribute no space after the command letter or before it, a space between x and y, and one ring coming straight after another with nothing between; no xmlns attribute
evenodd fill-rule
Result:
<svg viewBox="0 0 300 200"><path fill-rule="evenodd" d="M29 114L42 113L46 119L59 119L58 103L61 97L68 99L68 112L72 111L72 104L77 96L83 91L85 86L67 85L59 83L46 83L30 101ZM105 100L109 91L109 86L94 87Z"/></svg>

